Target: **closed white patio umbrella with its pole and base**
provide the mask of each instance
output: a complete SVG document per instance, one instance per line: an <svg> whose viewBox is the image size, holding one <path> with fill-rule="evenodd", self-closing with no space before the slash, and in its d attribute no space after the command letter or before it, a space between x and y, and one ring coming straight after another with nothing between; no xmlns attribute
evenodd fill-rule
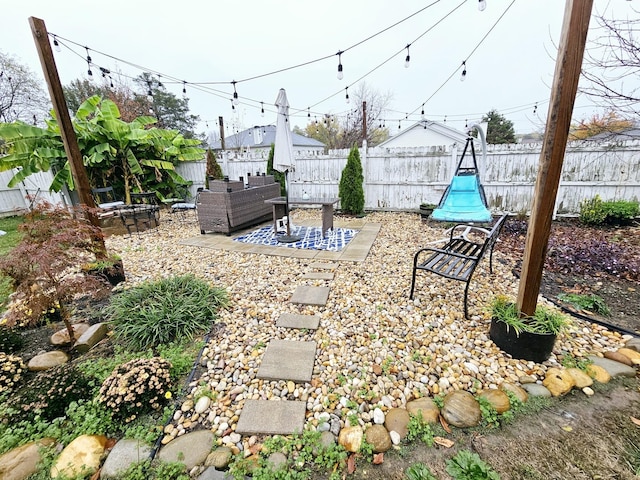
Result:
<svg viewBox="0 0 640 480"><path fill-rule="evenodd" d="M273 153L273 168L284 173L284 184L286 190L285 196L285 215L287 216L287 234L280 235L278 240L281 242L296 242L299 237L291 235L291 221L289 219L289 170L295 170L295 159L293 157L293 139L291 137L291 124L289 123L289 101L287 100L287 92L284 88L280 89L278 98L276 98L276 107L278 107L278 118L276 121L276 140Z"/></svg>

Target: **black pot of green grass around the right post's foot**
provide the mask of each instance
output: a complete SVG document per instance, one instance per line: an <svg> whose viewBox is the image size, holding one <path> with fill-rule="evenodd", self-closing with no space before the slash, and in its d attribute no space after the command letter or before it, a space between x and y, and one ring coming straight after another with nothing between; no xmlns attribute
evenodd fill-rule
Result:
<svg viewBox="0 0 640 480"><path fill-rule="evenodd" d="M489 336L513 358L542 363L553 351L558 334L567 325L566 316L539 305L533 316L521 316L514 302L497 296L490 307Z"/></svg>

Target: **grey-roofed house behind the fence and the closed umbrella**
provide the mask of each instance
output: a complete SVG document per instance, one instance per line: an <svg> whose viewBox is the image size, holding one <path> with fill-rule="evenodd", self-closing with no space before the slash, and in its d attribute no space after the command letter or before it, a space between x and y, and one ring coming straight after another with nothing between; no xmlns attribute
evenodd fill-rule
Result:
<svg viewBox="0 0 640 480"><path fill-rule="evenodd" d="M302 155L321 155L324 153L324 143L313 138L305 137L297 133L291 132L293 139L293 154ZM256 152L263 153L265 156L271 149L271 144L276 141L275 125L255 126L248 128L240 133L224 138L225 150L238 150L240 152ZM222 150L220 140L211 145L212 150Z"/></svg>

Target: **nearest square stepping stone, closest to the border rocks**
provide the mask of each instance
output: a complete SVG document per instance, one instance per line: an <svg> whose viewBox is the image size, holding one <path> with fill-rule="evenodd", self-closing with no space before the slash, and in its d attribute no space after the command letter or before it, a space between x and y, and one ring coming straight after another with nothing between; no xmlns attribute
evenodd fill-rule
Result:
<svg viewBox="0 0 640 480"><path fill-rule="evenodd" d="M306 409L306 402L247 400L240 412L236 432L242 435L301 433Z"/></svg>

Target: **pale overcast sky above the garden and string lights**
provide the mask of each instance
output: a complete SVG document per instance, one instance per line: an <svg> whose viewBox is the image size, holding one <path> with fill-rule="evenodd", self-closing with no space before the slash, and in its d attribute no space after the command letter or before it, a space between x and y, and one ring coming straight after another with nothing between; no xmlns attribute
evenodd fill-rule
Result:
<svg viewBox="0 0 640 480"><path fill-rule="evenodd" d="M616 17L626 17L633 14L632 3L595 0L594 13L615 7ZM514 122L517 133L540 131L565 2L516 0L508 8L511 4L486 0L486 9L479 11L478 0L22 0L3 9L0 50L42 78L28 23L30 16L41 18L49 33L61 37L62 52L54 53L63 84L87 78L83 46L90 49L96 76L97 66L131 77L148 69L159 72L176 95L182 95L183 85L168 78L185 80L191 111L202 120L199 131L217 130L219 116L231 128L275 124L279 88L287 91L293 125L307 124L309 107L311 120L346 115L352 105L345 101L345 87L353 92L359 81L391 95L385 124L392 134L398 125L419 120L423 104L427 119L442 122L446 116L447 125L459 129L495 108ZM404 67L407 44L409 68ZM338 51L345 51L343 80L336 77ZM262 76L322 57L330 58ZM461 82L465 59L466 81ZM240 99L235 114L234 80ZM201 82L222 83L190 85ZM595 111L588 99L578 98L574 119Z"/></svg>

